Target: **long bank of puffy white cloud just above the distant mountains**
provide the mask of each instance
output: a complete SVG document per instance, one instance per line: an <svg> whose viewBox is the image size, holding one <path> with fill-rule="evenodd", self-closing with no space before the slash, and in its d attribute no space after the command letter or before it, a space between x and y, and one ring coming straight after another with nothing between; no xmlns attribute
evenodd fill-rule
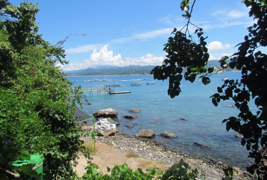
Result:
<svg viewBox="0 0 267 180"><path fill-rule="evenodd" d="M83 60L82 62L74 62L65 65L61 65L63 70L78 70L84 68L94 68L99 66L128 66L128 65L160 65L162 64L164 58L155 57L154 55L148 53L139 58L127 57L122 59L121 54L113 55L112 51L107 49L108 45L102 47L99 51L93 50L89 60Z"/></svg>

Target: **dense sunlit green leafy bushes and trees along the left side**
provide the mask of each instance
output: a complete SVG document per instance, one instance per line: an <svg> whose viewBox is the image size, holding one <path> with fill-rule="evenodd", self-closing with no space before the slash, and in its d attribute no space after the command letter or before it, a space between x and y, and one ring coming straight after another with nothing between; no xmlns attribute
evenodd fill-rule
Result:
<svg viewBox="0 0 267 180"><path fill-rule="evenodd" d="M83 143L73 122L82 92L55 67L68 63L64 41L51 45L37 34L37 4L0 2L0 137L42 155L45 178L71 176Z"/></svg>

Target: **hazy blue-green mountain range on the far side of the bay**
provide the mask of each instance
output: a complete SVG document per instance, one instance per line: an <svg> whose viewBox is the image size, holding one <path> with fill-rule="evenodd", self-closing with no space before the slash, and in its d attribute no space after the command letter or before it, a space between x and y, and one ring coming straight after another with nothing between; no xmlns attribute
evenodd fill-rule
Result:
<svg viewBox="0 0 267 180"><path fill-rule="evenodd" d="M220 67L219 60L209 60L207 67ZM101 66L98 68L86 68L79 70L65 70L63 73L68 76L84 76L84 75L128 75L128 74L150 74L155 65L129 65L124 67L119 66ZM183 68L186 71L186 68ZM227 70L227 69L226 69ZM230 69L229 69L230 70ZM232 70L232 69L231 69Z"/></svg>

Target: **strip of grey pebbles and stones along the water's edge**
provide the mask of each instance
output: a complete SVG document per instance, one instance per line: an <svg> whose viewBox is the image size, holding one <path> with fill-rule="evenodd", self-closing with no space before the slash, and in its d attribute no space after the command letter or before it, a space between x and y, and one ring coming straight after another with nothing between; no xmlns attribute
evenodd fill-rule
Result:
<svg viewBox="0 0 267 180"><path fill-rule="evenodd" d="M84 141L92 141L91 137L82 137ZM155 161L164 161L168 165L179 162L184 159L191 169L197 168L199 174L205 174L205 179L222 179L224 177L222 168L225 168L222 162L216 162L213 159L205 161L203 159L196 159L187 154L179 152L171 152L168 148L161 146L159 142L154 142L145 138L136 138L122 133L115 133L114 136L96 137L96 142L101 142L112 146L119 152L136 152L145 159ZM241 171L239 168L234 167L235 176L233 179L256 179L249 173Z"/></svg>

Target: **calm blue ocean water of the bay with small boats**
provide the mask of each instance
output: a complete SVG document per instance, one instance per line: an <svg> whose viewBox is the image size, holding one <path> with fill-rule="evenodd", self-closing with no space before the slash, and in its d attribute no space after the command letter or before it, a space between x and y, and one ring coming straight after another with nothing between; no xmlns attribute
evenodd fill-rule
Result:
<svg viewBox="0 0 267 180"><path fill-rule="evenodd" d="M237 116L239 111L233 105L232 100L221 101L217 107L212 102L211 95L217 92L217 86L221 86L223 77L240 79L241 72L225 72L211 76L211 83L203 85L201 80L194 83L181 81L182 93L171 99L168 96L168 80L154 80L151 75L119 75L119 76L68 76L74 86L82 88L102 88L105 84L121 83L120 86L111 87L115 91L131 91L125 94L105 94L96 92L93 95L84 92L92 102L85 105L84 109L89 113L100 109L112 108L118 112L121 123L117 126L120 132L136 135L141 129L155 131L154 141L162 142L163 146L175 152L182 152L193 157L204 159L216 159L232 166L245 168L253 159L247 158L248 151L240 144L240 139L235 138L234 132L226 131L222 120L230 116ZM102 81L106 78L107 81ZM146 78L146 80L140 80ZM101 81L94 81L99 79ZM82 82L91 80L91 82ZM78 81L78 82L74 82ZM155 84L147 85L147 82L155 81ZM141 82L141 85L131 86L131 83ZM129 112L137 108L141 112ZM253 100L250 102L250 110L256 111ZM124 115L137 115L136 119L126 119ZM179 120L181 117L187 121ZM117 119L117 118L114 118ZM125 125L133 124L132 128ZM172 132L176 138L163 138L161 132ZM199 147L194 142L208 144L210 148Z"/></svg>

